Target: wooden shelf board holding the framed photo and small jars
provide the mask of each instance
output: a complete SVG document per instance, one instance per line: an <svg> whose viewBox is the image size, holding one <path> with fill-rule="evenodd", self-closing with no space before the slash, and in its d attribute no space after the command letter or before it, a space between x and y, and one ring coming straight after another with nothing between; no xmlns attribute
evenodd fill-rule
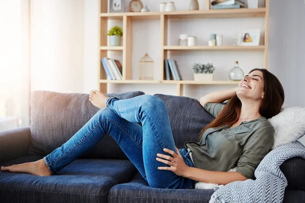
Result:
<svg viewBox="0 0 305 203"><path fill-rule="evenodd" d="M164 50L223 50L223 51L264 51L265 50L265 46L264 45L260 45L260 46L214 46L214 47L210 47L210 46L192 46L192 47L188 47L188 46L164 46L163 47Z"/></svg>

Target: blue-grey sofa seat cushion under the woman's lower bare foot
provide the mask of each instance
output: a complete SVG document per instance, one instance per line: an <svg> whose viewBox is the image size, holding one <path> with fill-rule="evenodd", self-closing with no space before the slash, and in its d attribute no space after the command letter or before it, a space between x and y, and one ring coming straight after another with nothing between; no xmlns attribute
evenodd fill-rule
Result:
<svg viewBox="0 0 305 203"><path fill-rule="evenodd" d="M41 158L30 155L3 165ZM129 182L135 172L135 166L126 159L77 159L48 177L0 171L0 202L106 202L109 189Z"/></svg>

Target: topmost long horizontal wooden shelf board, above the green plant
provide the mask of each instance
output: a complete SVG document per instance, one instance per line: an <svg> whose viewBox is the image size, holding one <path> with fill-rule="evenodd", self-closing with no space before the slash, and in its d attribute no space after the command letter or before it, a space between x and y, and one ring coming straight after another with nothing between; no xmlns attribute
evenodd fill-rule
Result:
<svg viewBox="0 0 305 203"><path fill-rule="evenodd" d="M197 10L197 11L171 11L171 12L125 12L125 13L101 13L101 17L108 19L123 19L130 16L133 19L160 19L166 15L169 19L177 18L242 18L242 17L264 17L265 8L258 9L219 9L219 10Z"/></svg>

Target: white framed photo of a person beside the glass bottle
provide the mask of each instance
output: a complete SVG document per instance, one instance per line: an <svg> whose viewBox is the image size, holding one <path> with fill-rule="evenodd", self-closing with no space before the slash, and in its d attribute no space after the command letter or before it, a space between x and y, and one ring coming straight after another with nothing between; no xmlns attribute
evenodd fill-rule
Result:
<svg viewBox="0 0 305 203"><path fill-rule="evenodd" d="M238 33L238 46L258 46L260 29L242 30Z"/></svg>

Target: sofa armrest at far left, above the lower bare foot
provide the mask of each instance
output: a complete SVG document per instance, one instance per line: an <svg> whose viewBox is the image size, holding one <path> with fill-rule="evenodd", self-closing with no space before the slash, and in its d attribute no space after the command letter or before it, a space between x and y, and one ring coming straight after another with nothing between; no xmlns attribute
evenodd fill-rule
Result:
<svg viewBox="0 0 305 203"><path fill-rule="evenodd" d="M0 132L0 164L27 154L31 145L29 126Z"/></svg>

